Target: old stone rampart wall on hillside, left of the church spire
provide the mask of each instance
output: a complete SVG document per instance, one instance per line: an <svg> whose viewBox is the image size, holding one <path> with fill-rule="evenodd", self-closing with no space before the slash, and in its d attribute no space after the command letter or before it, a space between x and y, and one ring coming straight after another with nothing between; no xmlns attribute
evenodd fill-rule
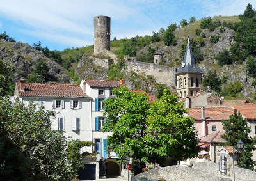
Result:
<svg viewBox="0 0 256 181"><path fill-rule="evenodd" d="M175 68L154 63L140 61L126 61L127 71L133 71L136 74L152 75L157 83L175 86Z"/></svg>

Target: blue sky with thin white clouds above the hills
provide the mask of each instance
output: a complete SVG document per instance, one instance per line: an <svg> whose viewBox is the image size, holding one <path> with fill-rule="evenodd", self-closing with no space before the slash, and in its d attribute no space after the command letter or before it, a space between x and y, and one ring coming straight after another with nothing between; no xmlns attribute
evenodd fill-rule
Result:
<svg viewBox="0 0 256 181"><path fill-rule="evenodd" d="M8 0L0 3L0 32L49 49L93 45L93 17L111 17L111 40L152 35L194 16L239 15L255 0Z"/></svg>

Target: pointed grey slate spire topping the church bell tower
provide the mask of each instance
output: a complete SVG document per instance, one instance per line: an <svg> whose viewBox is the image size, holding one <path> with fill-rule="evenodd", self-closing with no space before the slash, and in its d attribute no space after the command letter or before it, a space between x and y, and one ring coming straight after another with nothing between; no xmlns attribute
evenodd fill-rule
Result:
<svg viewBox="0 0 256 181"><path fill-rule="evenodd" d="M192 49L190 47L190 42L188 38L188 44L186 47L185 56L183 59L183 63L179 70L177 70L176 74L184 73L184 72L198 72L198 73L204 73L200 67L198 67L195 63L195 59L193 56Z"/></svg>

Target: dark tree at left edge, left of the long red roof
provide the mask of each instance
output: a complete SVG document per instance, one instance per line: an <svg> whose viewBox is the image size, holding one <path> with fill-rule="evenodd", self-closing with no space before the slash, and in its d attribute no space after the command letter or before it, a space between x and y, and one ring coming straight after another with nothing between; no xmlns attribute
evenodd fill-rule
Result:
<svg viewBox="0 0 256 181"><path fill-rule="evenodd" d="M14 67L0 59L0 96L13 95L15 83L13 81Z"/></svg>

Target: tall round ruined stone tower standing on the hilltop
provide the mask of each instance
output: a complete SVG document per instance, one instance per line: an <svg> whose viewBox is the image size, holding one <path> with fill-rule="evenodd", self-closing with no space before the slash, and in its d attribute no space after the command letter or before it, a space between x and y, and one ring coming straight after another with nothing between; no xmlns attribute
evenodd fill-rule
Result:
<svg viewBox="0 0 256 181"><path fill-rule="evenodd" d="M94 17L94 54L110 50L110 17Z"/></svg>

